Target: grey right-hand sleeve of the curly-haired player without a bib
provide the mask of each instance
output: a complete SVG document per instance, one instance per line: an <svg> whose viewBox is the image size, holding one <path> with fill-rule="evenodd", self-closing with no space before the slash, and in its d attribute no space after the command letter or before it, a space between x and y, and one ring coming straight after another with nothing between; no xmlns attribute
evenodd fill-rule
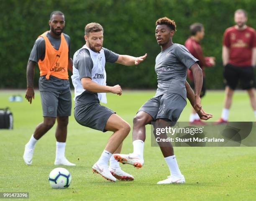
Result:
<svg viewBox="0 0 256 201"><path fill-rule="evenodd" d="M190 67L195 63L199 64L199 60L196 59L184 46L177 46L174 54L177 56L179 61L187 67L187 69L190 69Z"/></svg>

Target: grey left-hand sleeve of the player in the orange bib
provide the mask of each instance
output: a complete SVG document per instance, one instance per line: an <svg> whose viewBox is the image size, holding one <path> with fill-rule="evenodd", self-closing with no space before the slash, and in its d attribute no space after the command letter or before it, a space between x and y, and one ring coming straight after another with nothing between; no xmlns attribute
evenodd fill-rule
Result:
<svg viewBox="0 0 256 201"><path fill-rule="evenodd" d="M31 50L29 60L38 62L40 59L43 61L45 56L45 41L43 37L36 39L34 46Z"/></svg>

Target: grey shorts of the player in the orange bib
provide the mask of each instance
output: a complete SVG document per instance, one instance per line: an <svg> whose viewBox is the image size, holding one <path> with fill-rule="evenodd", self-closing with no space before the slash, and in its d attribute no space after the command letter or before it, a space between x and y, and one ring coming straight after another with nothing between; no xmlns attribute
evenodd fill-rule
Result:
<svg viewBox="0 0 256 201"><path fill-rule="evenodd" d="M40 91L43 117L68 117L71 115L72 97L70 89Z"/></svg>

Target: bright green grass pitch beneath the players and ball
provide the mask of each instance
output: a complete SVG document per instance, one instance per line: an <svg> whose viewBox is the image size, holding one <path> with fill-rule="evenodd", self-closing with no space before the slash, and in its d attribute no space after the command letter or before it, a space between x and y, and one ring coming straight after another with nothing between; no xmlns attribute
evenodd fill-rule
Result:
<svg viewBox="0 0 256 201"><path fill-rule="evenodd" d="M150 126L144 149L144 166L141 169L122 165L131 173L132 182L110 183L91 168L100 157L111 133L102 133L82 127L72 115L69 119L66 156L76 167L67 167L72 183L67 189L51 189L48 175L54 166L55 127L37 143L31 166L23 162L24 145L36 125L42 121L41 102L35 100L8 102L8 97L25 91L1 91L0 108L10 107L14 115L14 129L0 130L0 192L29 192L29 200L36 201L255 201L256 148L254 147L177 147L174 148L185 184L156 185L169 175L169 169L158 147L151 147ZM132 126L138 108L154 91L125 91L121 97L108 94L107 106L115 110ZM220 117L223 92L208 92L202 99L205 111ZM188 121L187 104L180 121ZM248 95L237 92L230 111L230 121L255 121ZM122 153L132 152L131 133L123 143ZM79 160L78 160L79 159Z"/></svg>

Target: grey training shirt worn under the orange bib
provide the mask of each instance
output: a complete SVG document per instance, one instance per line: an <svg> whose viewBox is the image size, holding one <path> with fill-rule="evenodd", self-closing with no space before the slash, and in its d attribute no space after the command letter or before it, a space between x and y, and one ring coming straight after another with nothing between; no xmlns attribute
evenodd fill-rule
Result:
<svg viewBox="0 0 256 201"><path fill-rule="evenodd" d="M69 47L69 58L70 58L70 37L63 33L65 40L67 41L67 45ZM61 38L53 38L51 34L47 33L46 37L49 39L51 45L54 49L59 50L59 46L61 43ZM36 39L34 46L31 50L29 59L30 61L38 62L39 60L43 61L45 57L45 41L43 37L39 37ZM40 91L55 91L61 89L69 88L69 80L59 79L54 76L50 76L50 79L47 80L45 76L40 76L39 78L39 90Z"/></svg>

